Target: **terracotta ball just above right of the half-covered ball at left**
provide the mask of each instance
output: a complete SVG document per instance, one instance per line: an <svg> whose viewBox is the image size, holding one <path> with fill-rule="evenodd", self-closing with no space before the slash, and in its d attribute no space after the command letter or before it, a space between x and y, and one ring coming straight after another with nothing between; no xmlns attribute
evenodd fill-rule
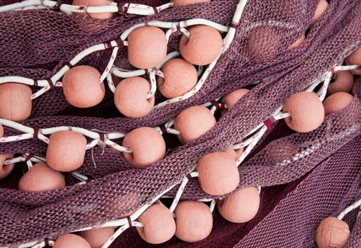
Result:
<svg viewBox="0 0 361 248"><path fill-rule="evenodd" d="M46 162L56 171L74 171L82 166L87 139L80 133L59 131L50 135Z"/></svg>

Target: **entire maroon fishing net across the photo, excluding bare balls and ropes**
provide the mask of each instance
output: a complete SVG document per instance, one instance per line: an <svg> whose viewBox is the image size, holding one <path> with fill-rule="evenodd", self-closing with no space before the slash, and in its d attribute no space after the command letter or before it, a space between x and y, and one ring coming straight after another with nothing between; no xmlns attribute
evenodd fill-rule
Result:
<svg viewBox="0 0 361 248"><path fill-rule="evenodd" d="M148 4L156 1L150 2ZM96 33L79 29L77 22L84 20L56 11L1 13L0 76L49 77L84 48L112 40L136 23L207 18L228 25L237 2L214 0L211 4L165 10L156 16L118 16L111 21L90 21L91 26L100 28ZM57 237L120 218L170 186L179 184L203 154L224 150L270 118L291 94L304 90L361 44L361 1L331 1L325 16L309 31L301 47L288 51L288 45L306 32L317 4L316 0L249 1L230 49L218 61L201 90L186 101L158 108L143 118L121 118L110 92L91 111L69 107L61 89L36 99L33 116L24 125L39 128L72 125L88 130L128 132L139 126L160 125L188 106L211 101L240 87L251 87L257 79L271 76L254 85L209 133L172 150L148 169L132 169L123 157L108 148L103 153L102 147L94 147L94 161L89 150L79 169L93 181L74 186L76 181L67 176L68 186L62 190L28 193L16 189L23 169L19 165L17 173L0 181L0 246ZM250 59L249 30L270 20L277 23L274 30L279 45L274 48L265 43L263 53L266 57L269 53L275 57ZM256 33L256 38L267 40L262 32ZM170 50L177 49L177 39L172 40ZM81 64L104 69L109 55L109 51L96 52ZM116 63L122 63L124 57L125 51L120 53ZM353 91L355 98L348 108L329 115L321 127L311 133L291 133L280 120L239 167L240 186L265 187L262 188L260 214L245 225L232 225L217 217L212 235L199 244L203 247L205 244L207 247L211 244L267 247L272 241L272 247L314 246L313 234L318 222L327 215L337 215L360 195L360 85L359 78ZM5 133L18 132L5 128ZM33 140L0 145L1 154L31 152L43 156L45 151L45 143ZM167 195L174 195L174 190ZM182 196L205 197L196 179L191 179ZM355 213L348 215L350 224L354 217ZM360 228L358 225L356 228ZM138 247L145 245L137 243L141 241L134 235L134 230L128 230L117 241L129 247L129 242ZM289 237L295 238L289 241ZM352 236L352 240L357 237ZM172 239L169 245L189 244Z"/></svg>

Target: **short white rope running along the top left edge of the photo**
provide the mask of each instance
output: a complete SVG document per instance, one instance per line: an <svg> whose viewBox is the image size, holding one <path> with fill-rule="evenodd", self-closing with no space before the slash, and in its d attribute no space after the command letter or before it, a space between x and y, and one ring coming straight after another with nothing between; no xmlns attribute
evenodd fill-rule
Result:
<svg viewBox="0 0 361 248"><path fill-rule="evenodd" d="M72 5L72 4L59 4L57 1L50 0L26 0L20 3L9 4L0 6L0 13L7 11L26 11L30 9L50 9L59 10L67 14L72 13L119 13L131 14L139 16L152 16L165 9L172 8L173 3L166 3L160 6L148 6L145 4L117 4L109 1L105 6L85 6L85 5Z"/></svg>

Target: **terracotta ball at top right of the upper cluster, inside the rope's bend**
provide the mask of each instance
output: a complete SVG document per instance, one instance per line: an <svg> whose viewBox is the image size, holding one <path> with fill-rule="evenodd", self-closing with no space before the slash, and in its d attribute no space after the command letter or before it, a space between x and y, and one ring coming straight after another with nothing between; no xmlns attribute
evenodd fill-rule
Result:
<svg viewBox="0 0 361 248"><path fill-rule="evenodd" d="M188 28L191 35L182 35L179 52L191 64L206 65L216 60L222 49L222 36L216 28L197 25Z"/></svg>

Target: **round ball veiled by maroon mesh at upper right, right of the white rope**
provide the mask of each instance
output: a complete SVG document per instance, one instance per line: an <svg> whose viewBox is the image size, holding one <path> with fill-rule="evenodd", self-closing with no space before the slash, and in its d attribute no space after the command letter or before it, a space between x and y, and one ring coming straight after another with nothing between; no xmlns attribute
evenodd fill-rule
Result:
<svg viewBox="0 0 361 248"><path fill-rule="evenodd" d="M247 50L252 60L269 60L277 55L279 36L276 30L260 27L250 30Z"/></svg>

